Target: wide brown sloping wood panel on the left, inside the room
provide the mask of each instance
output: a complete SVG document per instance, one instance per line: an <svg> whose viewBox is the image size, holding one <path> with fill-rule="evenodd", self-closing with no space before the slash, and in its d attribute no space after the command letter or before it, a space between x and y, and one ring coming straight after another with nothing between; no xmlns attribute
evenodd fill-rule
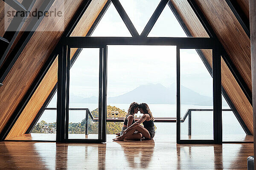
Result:
<svg viewBox="0 0 256 170"><path fill-rule="evenodd" d="M64 5L69 7L64 11L64 26L58 23L58 18L44 17L38 28L45 31L35 31L28 44L13 65L11 71L0 88L0 132L8 122L23 96L38 75L47 58L55 48L68 22L75 14L82 0L55 0L50 10L61 10ZM64 4L65 3L65 4ZM56 19L56 23L52 24ZM62 31L52 31L62 30Z"/></svg>

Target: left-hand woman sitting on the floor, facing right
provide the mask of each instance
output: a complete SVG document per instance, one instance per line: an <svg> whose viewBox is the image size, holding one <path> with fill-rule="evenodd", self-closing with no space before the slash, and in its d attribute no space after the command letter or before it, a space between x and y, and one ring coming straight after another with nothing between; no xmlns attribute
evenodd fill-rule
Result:
<svg viewBox="0 0 256 170"><path fill-rule="evenodd" d="M134 124L134 122L135 122L134 121L134 114L138 113L138 111L139 111L139 104L137 102L132 102L129 109L128 109L128 113L125 116L122 131L120 133L116 133L117 136L122 135L124 133L125 129L127 129L127 127ZM137 135L141 136L141 134L137 134Z"/></svg>

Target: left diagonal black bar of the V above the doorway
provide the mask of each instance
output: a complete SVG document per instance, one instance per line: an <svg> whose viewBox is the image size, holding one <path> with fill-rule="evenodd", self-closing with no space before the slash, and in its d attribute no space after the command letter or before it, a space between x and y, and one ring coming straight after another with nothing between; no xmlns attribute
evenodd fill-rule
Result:
<svg viewBox="0 0 256 170"><path fill-rule="evenodd" d="M131 22L130 18L126 14L124 8L122 7L121 3L119 0L111 0L113 5L115 6L117 12L119 13L120 17L125 23L125 26L128 28L130 31L132 37L139 37L139 33L137 32L136 28L134 27L133 23Z"/></svg>

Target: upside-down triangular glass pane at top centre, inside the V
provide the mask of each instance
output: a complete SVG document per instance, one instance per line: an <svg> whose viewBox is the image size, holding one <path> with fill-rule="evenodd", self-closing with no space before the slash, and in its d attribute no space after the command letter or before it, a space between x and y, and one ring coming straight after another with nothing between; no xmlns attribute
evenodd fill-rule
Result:
<svg viewBox="0 0 256 170"><path fill-rule="evenodd" d="M160 0L119 0L139 34L151 18Z"/></svg>

